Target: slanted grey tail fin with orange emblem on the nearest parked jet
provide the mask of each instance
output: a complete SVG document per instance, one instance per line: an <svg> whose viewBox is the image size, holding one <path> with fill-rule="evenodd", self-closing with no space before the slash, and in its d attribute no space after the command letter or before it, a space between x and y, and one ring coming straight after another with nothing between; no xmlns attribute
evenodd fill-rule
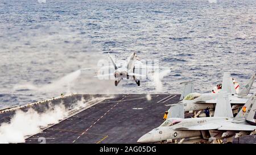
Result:
<svg viewBox="0 0 256 155"><path fill-rule="evenodd" d="M241 108L241 110L238 112L234 120L239 119L246 119L247 122L253 123L254 125L254 115L256 112L256 94L251 95L250 99L247 100L245 105Z"/></svg>

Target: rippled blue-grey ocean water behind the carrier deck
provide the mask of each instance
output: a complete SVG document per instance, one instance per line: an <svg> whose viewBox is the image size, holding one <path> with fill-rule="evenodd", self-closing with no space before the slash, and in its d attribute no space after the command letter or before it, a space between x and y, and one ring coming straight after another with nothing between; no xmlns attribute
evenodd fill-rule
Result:
<svg viewBox="0 0 256 155"><path fill-rule="evenodd" d="M1 0L0 108L71 92L180 93L184 81L205 93L224 71L244 85L256 72L255 6L255 0ZM79 70L97 66L108 52L117 60L137 52L172 71L159 91L153 81L115 87Z"/></svg>

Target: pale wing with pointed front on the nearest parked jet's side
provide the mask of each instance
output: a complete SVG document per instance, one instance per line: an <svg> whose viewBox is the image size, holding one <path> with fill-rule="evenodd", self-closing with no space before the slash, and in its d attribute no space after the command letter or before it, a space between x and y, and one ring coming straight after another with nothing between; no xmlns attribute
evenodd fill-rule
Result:
<svg viewBox="0 0 256 155"><path fill-rule="evenodd" d="M175 130L209 130L209 129L218 129L220 127L221 127L221 124L207 123L207 124L191 125L185 128L175 128Z"/></svg>

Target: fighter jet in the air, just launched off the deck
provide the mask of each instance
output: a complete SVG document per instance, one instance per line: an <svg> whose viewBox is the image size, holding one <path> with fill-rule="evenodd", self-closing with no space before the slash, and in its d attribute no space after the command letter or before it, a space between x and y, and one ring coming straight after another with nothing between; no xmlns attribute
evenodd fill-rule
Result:
<svg viewBox="0 0 256 155"><path fill-rule="evenodd" d="M98 68L98 74L95 77L102 79L114 79L115 86L121 81L121 79L133 79L138 86L141 85L141 78L151 78L154 77L155 74L158 76L161 75L159 73L159 69L167 70L170 72L170 68L160 68L156 64L154 65L144 65L141 60L139 60L137 54L134 52L129 56L123 64L116 64L114 58L110 56L108 53L112 65L102 66ZM85 68L84 70L92 69ZM165 74L166 72L164 72Z"/></svg>

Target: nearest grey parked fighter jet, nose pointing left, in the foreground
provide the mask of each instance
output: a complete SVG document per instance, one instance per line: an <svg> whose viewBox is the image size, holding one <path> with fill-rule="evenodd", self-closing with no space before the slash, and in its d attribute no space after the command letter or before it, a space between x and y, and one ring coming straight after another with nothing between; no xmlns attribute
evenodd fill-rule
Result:
<svg viewBox="0 0 256 155"><path fill-rule="evenodd" d="M213 117L169 118L158 128L143 135L138 143L156 143L176 139L228 139L255 134L256 94L251 95L243 108L233 118L229 95L220 91ZM183 113L184 114L184 113Z"/></svg>

